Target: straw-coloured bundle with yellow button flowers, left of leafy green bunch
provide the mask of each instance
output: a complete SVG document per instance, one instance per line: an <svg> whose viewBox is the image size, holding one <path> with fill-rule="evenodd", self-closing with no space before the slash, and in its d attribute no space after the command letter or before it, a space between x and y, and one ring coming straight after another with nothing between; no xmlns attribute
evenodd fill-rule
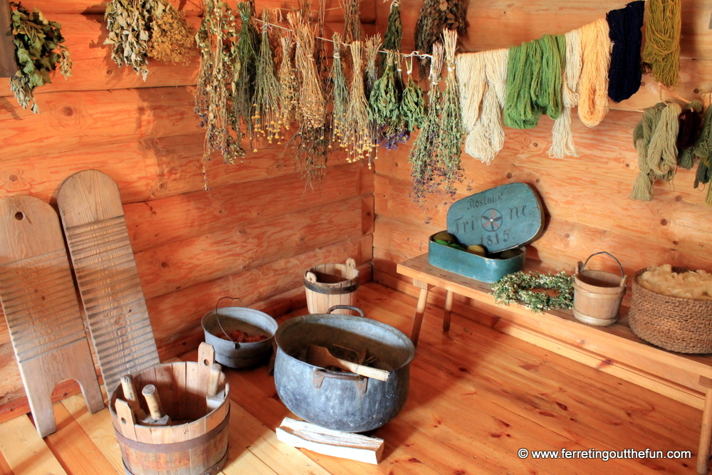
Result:
<svg viewBox="0 0 712 475"><path fill-rule="evenodd" d="M347 150L347 162L368 159L371 166L373 131L369 118L368 102L363 86L362 43L351 43L353 75L349 92L349 107L346 111L342 146Z"/></svg>

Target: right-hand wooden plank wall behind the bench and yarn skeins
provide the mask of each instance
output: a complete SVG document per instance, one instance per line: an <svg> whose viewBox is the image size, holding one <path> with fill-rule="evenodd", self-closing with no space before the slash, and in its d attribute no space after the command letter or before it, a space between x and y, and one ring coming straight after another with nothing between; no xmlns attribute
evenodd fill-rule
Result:
<svg viewBox="0 0 712 475"><path fill-rule="evenodd" d="M624 0L471 2L469 34L461 50L503 48L544 33L565 33L625 4ZM404 49L412 48L421 6L421 1L402 0ZM708 23L712 6L701 0L682 0L682 8L681 85L676 93L699 99L711 91ZM379 29L387 13L388 5L379 3ZM504 150L491 165L463 154L466 184L459 187L456 199L510 182L538 189L547 209L546 227L543 236L528 246L528 256L538 259L543 268L572 272L577 261L596 251L609 251L620 259L628 275L661 263L712 271L712 208L703 204L705 193L693 189L694 170L679 170L671 184L656 183L652 202L628 199L638 172L632 141L633 128L642 115L638 110L661 99L650 77L644 76L644 84L633 98L611 103L612 110L597 127L585 127L574 115L579 157L548 156L553 125L549 118L533 130L506 128ZM396 264L427 251L428 236L446 228L446 212L453 201L431 196L424 212L409 199L411 145L412 141L399 150L379 152L375 175L374 278L408 292L414 289L397 276ZM594 265L615 268L604 259Z"/></svg>

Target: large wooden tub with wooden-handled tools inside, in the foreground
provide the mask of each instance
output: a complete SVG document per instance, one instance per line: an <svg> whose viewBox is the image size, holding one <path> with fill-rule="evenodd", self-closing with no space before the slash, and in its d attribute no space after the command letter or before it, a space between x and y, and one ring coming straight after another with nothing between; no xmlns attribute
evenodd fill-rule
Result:
<svg viewBox="0 0 712 475"><path fill-rule="evenodd" d="M127 474L214 475L225 466L229 384L220 365L214 365L211 345L201 343L198 355L198 362L156 365L132 375L138 402L126 402L122 385L112 392L111 422ZM162 414L169 415L172 425L137 422L142 412L149 414L140 395L146 385L155 385ZM215 388L214 395L206 395Z"/></svg>

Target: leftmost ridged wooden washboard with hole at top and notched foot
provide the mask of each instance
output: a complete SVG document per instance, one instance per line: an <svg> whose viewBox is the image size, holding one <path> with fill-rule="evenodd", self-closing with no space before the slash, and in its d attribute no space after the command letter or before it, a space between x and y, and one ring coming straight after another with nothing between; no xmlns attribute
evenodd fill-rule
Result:
<svg viewBox="0 0 712 475"><path fill-rule="evenodd" d="M0 199L0 301L41 437L56 431L52 390L64 380L103 409L59 220L41 199Z"/></svg>

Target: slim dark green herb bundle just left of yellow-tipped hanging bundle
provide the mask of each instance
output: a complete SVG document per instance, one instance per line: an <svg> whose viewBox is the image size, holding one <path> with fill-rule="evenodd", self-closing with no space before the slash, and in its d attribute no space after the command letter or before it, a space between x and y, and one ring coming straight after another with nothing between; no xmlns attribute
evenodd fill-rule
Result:
<svg viewBox="0 0 712 475"><path fill-rule="evenodd" d="M237 35L237 56L240 61L240 74L238 76L234 108L238 118L245 123L250 147L254 149L254 129L252 126L253 96L255 91L255 78L257 75L257 50L259 35L253 24L254 5L251 1L239 1L237 9L240 11L241 27Z"/></svg>

